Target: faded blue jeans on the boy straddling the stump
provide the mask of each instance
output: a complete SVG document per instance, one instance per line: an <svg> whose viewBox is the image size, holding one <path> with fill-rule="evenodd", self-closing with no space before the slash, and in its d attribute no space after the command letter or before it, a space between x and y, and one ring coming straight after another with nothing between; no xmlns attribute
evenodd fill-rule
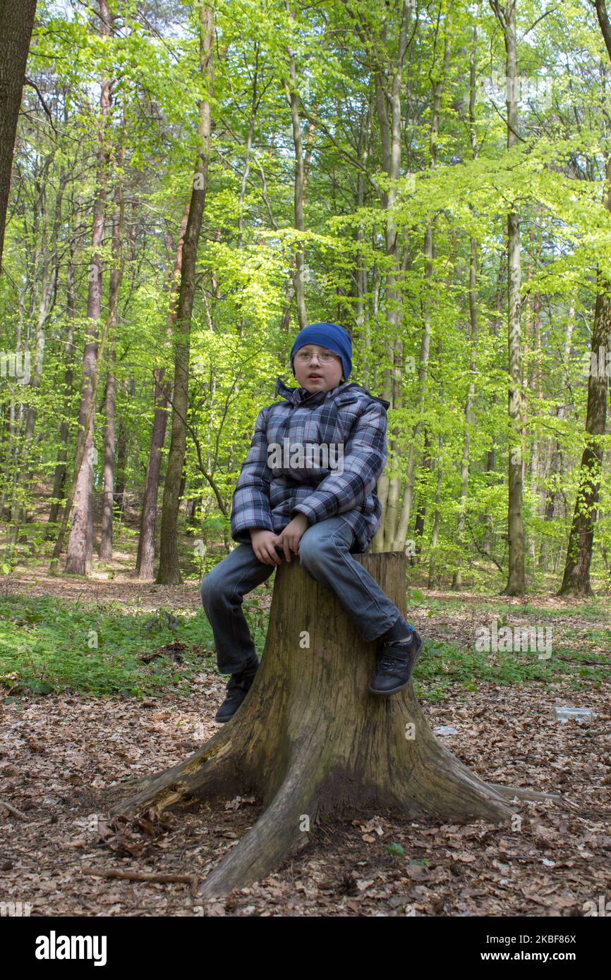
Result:
<svg viewBox="0 0 611 980"><path fill-rule="evenodd" d="M352 529L341 516L312 524L299 541L299 562L317 582L331 589L366 642L393 626L401 615L360 562L350 554ZM285 559L282 559L285 561ZM296 556L291 556L291 562ZM252 545L240 544L204 578L200 593L217 649L219 672L239 673L256 657L242 613L242 599L270 577L276 565L264 564Z"/></svg>

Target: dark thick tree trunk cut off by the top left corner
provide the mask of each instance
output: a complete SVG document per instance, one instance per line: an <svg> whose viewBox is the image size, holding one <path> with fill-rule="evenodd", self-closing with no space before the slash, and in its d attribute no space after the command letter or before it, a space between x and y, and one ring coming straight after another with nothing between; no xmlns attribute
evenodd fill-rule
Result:
<svg viewBox="0 0 611 980"><path fill-rule="evenodd" d="M35 13L36 0L2 0L0 3L0 271L15 135Z"/></svg>

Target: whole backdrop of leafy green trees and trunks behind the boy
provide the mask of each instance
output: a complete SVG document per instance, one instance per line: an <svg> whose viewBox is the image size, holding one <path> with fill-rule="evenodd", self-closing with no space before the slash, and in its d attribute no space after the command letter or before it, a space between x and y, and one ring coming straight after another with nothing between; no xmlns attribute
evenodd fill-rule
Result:
<svg viewBox="0 0 611 980"><path fill-rule="evenodd" d="M254 420L324 320L390 403L374 551L430 586L608 592L603 0L30 7L3 571L85 574L113 535L160 582L218 560Z"/></svg>

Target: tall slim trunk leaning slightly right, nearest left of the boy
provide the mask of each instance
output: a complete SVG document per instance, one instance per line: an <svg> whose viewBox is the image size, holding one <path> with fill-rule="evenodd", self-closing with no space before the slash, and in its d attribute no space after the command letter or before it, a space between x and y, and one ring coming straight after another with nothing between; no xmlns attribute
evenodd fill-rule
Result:
<svg viewBox="0 0 611 980"><path fill-rule="evenodd" d="M200 70L206 80L207 91L212 89L214 52L213 12L203 4L200 8ZM191 313L195 295L195 262L201 231L210 155L211 115L210 102L204 98L200 104L198 136L200 146L193 178L189 217L184 233L180 290L178 294L176 362L174 376L174 400L172 412L172 441L168 457L168 471L164 487L164 503L161 522L160 563L157 582L177 585L180 581L178 567L178 507L179 487L184 451L186 447L186 413L188 408L188 371Z"/></svg>

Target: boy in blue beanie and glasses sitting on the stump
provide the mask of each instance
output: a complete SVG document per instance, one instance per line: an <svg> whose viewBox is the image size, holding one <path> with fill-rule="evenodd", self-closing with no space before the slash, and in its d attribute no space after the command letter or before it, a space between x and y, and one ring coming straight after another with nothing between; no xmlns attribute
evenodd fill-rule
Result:
<svg viewBox="0 0 611 980"><path fill-rule="evenodd" d="M382 515L376 484L386 461L389 403L347 383L352 342L336 323L304 327L290 362L300 387L278 378L276 392L285 401L259 413L233 493L231 537L239 547L201 585L219 671L231 674L220 722L237 711L259 666L242 599L282 557L298 556L305 571L335 593L363 638L381 641L373 694L404 688L423 645L350 554L367 551Z"/></svg>

